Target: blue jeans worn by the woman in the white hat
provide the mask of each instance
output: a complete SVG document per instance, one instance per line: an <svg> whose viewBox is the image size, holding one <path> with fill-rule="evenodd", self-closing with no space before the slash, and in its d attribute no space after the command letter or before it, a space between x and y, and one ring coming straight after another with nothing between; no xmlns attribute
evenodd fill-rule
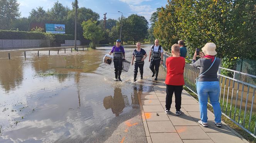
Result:
<svg viewBox="0 0 256 143"><path fill-rule="evenodd" d="M197 95L199 99L200 118L207 123L207 102L208 96L212 104L215 122L221 122L221 105L219 104L219 81L199 81L197 82Z"/></svg>

